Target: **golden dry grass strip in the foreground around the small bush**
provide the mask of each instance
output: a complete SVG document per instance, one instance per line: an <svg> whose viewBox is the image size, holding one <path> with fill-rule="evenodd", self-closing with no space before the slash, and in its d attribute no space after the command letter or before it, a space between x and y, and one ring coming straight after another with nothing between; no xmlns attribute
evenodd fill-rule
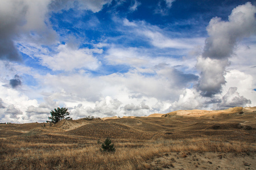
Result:
<svg viewBox="0 0 256 170"><path fill-rule="evenodd" d="M255 151L255 146L249 143L226 143L218 137L158 141L120 139L115 143L115 154L101 154L98 144L84 137L40 134L0 139L0 169L153 169L146 162L164 152Z"/></svg>

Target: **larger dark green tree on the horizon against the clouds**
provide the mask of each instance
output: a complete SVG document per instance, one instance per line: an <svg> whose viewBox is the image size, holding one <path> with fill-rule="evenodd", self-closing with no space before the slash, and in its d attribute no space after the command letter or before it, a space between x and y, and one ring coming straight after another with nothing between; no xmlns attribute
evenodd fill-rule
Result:
<svg viewBox="0 0 256 170"><path fill-rule="evenodd" d="M48 117L51 121L46 122L52 122L53 124L56 124L57 122L63 120L63 119L72 119L71 117L67 117L69 115L67 108L55 108L54 111L51 111L51 117Z"/></svg>

